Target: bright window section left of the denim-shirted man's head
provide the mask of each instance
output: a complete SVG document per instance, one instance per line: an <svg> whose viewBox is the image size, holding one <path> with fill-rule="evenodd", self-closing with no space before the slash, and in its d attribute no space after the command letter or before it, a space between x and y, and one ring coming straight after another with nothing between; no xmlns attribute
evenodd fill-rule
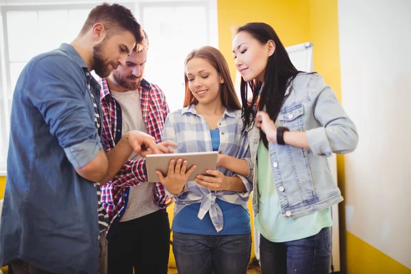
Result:
<svg viewBox="0 0 411 274"><path fill-rule="evenodd" d="M90 8L92 8L90 6ZM5 171L9 120L14 86L24 66L37 55L71 42L87 18L90 8L64 6L4 7L1 10L3 51L1 66L0 172ZM58 23L56 23L58 22ZM29 27L28 27L29 26ZM4 68L4 69L3 69Z"/></svg>

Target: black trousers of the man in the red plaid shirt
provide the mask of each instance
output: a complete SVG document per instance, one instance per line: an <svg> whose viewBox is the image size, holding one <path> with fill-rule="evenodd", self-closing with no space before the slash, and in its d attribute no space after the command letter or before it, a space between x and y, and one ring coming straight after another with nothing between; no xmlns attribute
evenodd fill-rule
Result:
<svg viewBox="0 0 411 274"><path fill-rule="evenodd" d="M166 274L170 223L166 210L120 222L108 239L108 273Z"/></svg>

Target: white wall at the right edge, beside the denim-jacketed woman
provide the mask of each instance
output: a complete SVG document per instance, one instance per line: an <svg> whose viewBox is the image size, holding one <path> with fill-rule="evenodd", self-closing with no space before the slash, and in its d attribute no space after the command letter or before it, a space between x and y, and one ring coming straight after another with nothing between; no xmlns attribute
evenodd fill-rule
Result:
<svg viewBox="0 0 411 274"><path fill-rule="evenodd" d="M340 0L347 231L411 268L411 1Z"/></svg>

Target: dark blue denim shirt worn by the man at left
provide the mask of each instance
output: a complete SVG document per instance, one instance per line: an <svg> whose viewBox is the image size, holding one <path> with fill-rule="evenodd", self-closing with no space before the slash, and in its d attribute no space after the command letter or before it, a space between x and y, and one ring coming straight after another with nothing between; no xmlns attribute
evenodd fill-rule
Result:
<svg viewBox="0 0 411 274"><path fill-rule="evenodd" d="M19 258L53 273L98 273L97 192L75 171L102 149L89 83L99 88L66 44L30 60L18 78L0 265Z"/></svg>

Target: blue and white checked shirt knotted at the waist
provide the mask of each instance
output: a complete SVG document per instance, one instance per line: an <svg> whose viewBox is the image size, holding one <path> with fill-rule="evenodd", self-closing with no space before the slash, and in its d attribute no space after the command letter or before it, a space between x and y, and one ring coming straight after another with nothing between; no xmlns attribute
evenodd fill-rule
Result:
<svg viewBox="0 0 411 274"><path fill-rule="evenodd" d="M217 126L220 131L219 153L245 159L251 166L247 132L242 131L241 111L226 109ZM188 105L167 116L162 140L176 142L177 149L174 149L174 152L178 153L212 151L210 128L206 120L195 110L195 105ZM218 170L225 176L236 175L223 167L219 167ZM253 174L251 169L250 174ZM220 232L223 229L223 212L216 199L240 205L248 210L247 201L253 184L249 177L237 176L244 182L246 192L212 191L199 186L195 181L188 181L180 195L171 195L167 191L167 195L175 197L174 216L177 216L185 206L201 203L197 216L202 220L209 212L216 231Z"/></svg>

